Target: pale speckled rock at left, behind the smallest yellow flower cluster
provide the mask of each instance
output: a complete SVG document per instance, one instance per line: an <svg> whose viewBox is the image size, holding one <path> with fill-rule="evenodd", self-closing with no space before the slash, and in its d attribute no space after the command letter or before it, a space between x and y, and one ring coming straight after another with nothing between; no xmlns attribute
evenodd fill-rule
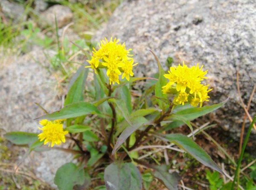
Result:
<svg viewBox="0 0 256 190"><path fill-rule="evenodd" d="M35 105L35 102L49 112L61 108L61 96L55 90L55 79L39 64L40 62L49 67L45 54L51 55L54 52L33 48L30 53L2 65L0 69L0 128L6 132L39 133L38 121L34 119L43 115L44 112ZM23 155L20 155L20 159L22 158ZM72 159L73 155L69 153L50 150L32 152L23 164L33 168L36 176L55 187L53 179L56 170Z"/></svg>

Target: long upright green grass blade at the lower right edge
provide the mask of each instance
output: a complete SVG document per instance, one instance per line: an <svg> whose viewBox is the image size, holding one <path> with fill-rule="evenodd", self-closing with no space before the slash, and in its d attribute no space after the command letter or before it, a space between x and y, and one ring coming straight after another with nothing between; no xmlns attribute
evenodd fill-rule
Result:
<svg viewBox="0 0 256 190"><path fill-rule="evenodd" d="M241 150L241 154L239 156L239 160L237 162L237 166L236 166L236 173L235 173L235 176L234 176L234 180L233 180L233 183L232 183L232 187L231 187L231 190L234 190L234 187L235 187L235 182L236 182L236 177L238 176L238 173L239 173L239 170L240 170L240 165L241 165L241 162L242 162L242 159L243 159L243 156L244 156L244 150L245 150L245 147L247 145L247 142L249 140L249 136L250 136L250 133L252 131L252 128L253 128L253 124L256 122L256 116L253 117L253 121L251 122L250 126L249 126L249 129L247 131L247 134L246 134L246 137L244 139L244 144L243 144L243 147L242 147L242 150ZM239 181L237 183L237 186L239 186Z"/></svg>

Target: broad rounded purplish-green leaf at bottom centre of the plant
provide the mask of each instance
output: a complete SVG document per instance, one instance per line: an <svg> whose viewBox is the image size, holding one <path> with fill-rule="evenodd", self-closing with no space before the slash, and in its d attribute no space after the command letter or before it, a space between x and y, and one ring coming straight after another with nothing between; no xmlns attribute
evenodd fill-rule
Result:
<svg viewBox="0 0 256 190"><path fill-rule="evenodd" d="M104 181L107 190L141 190L142 178L132 163L112 163L106 167Z"/></svg>

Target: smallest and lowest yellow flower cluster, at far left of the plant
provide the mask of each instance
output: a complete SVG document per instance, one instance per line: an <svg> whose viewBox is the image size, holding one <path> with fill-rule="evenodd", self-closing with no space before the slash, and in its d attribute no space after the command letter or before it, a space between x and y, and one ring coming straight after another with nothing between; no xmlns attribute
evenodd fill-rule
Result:
<svg viewBox="0 0 256 190"><path fill-rule="evenodd" d="M51 147L55 144L60 145L61 142L66 142L65 135L68 131L63 130L63 119L58 119L55 121L48 121L47 119L41 120L39 123L43 128L39 128L43 132L38 135L40 141L44 140L44 145L49 142L49 146L52 143Z"/></svg>

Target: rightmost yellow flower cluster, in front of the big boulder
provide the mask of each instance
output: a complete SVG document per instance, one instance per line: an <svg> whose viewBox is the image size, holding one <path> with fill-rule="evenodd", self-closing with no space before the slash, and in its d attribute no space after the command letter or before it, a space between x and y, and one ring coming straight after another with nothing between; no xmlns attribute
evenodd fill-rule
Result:
<svg viewBox="0 0 256 190"><path fill-rule="evenodd" d="M207 79L204 77L207 71L202 70L203 66L199 68L197 64L188 68L183 62L182 66L179 64L177 67L171 67L168 71L169 74L163 75L169 79L169 82L162 87L163 93L171 94L174 90L176 91L174 105L184 105L185 102L189 102L195 107L200 103L200 107L202 107L203 102L209 101L208 92L212 89L208 90L209 85L201 84L204 79Z"/></svg>

